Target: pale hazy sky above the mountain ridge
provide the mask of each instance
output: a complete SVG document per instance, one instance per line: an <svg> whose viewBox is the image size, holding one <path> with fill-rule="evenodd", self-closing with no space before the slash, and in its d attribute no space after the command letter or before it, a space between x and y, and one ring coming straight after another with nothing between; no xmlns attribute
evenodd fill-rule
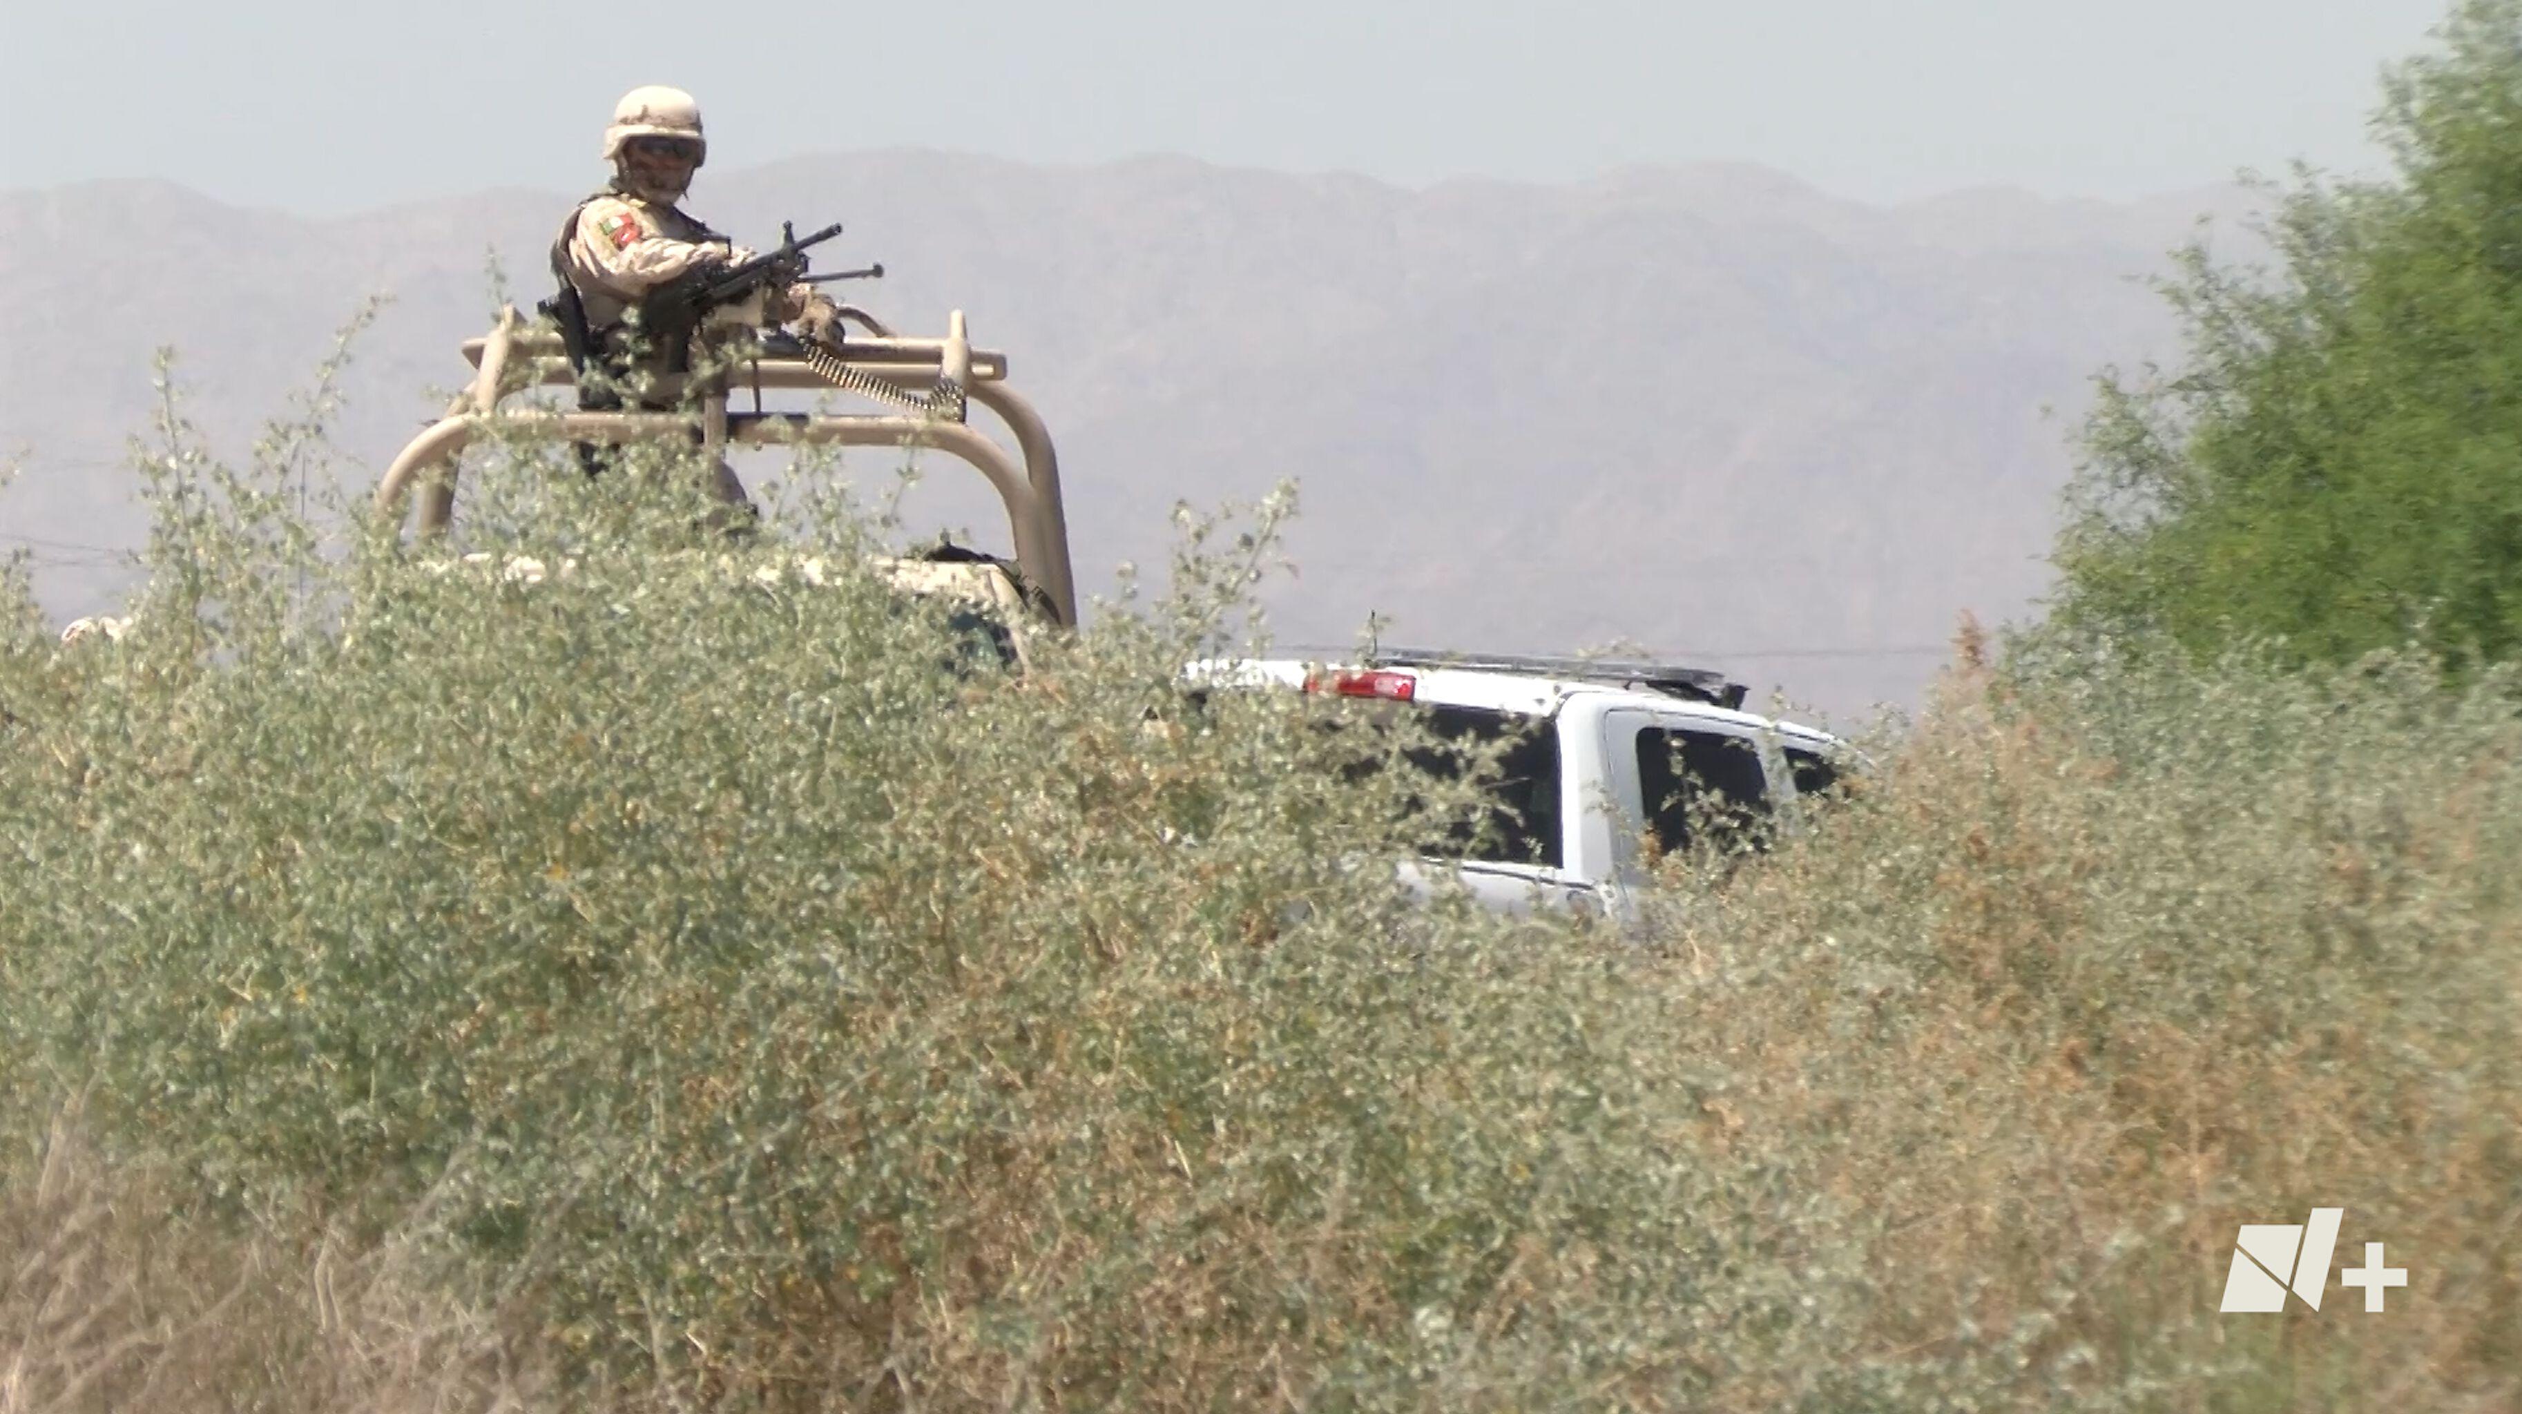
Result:
<svg viewBox="0 0 2522 1414"><path fill-rule="evenodd" d="M2378 166L2449 0L0 0L0 187L164 176L346 212L600 179L633 83L711 159L1145 151L1422 184L1760 161L1899 199Z"/></svg>

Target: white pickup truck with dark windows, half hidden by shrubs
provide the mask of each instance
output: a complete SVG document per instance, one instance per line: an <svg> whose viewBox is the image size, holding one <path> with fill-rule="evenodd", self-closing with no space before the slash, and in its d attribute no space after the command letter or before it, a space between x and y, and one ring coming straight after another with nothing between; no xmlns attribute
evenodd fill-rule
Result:
<svg viewBox="0 0 2522 1414"><path fill-rule="evenodd" d="M1440 739L1503 739L1491 827L1478 847L1455 832L1475 852L1405 870L1422 890L1450 870L1501 912L1629 920L1654 852L1695 829L1765 829L1849 761L1836 736L1740 711L1738 683L1670 663L1380 650L1203 663L1193 675L1407 703Z"/></svg>

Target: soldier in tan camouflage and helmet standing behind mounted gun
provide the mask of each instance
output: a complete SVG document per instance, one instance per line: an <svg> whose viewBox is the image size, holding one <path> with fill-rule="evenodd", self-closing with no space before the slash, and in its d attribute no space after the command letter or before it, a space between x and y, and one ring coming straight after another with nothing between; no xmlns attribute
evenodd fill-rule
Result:
<svg viewBox="0 0 2522 1414"><path fill-rule="evenodd" d="M623 393L641 408L671 406L653 401L651 393L653 381L666 373L671 350L641 348L625 323L628 313L658 285L706 262L752 260L754 252L676 204L706 159L709 139L701 134L701 106L691 93L646 86L623 93L613 106L613 126L605 129L613 184L580 202L552 242L552 272L562 282L562 308L555 313L567 320L565 305L575 295L585 320L588 363L600 371L580 381L580 408L620 408ZM792 285L772 300L769 318L794 320L805 333L830 340L837 305L812 285ZM580 461L595 474L598 461L590 449L580 449ZM716 491L726 502L747 499L724 464Z"/></svg>

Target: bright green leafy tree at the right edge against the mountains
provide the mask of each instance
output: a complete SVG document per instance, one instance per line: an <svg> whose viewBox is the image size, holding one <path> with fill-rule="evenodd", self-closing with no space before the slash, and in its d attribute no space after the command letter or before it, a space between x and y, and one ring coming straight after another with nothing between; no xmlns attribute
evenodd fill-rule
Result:
<svg viewBox="0 0 2522 1414"><path fill-rule="evenodd" d="M2303 179L2272 275L2189 250L2179 368L2101 381L2063 625L2300 663L2522 650L2522 3L2456 5L2376 131L2393 181Z"/></svg>

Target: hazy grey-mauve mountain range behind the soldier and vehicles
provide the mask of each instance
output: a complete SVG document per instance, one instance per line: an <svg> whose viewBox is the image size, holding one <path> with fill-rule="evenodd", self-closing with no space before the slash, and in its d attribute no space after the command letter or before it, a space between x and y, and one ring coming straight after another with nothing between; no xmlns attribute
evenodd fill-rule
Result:
<svg viewBox="0 0 2522 1414"><path fill-rule="evenodd" d="M590 187L595 184L590 176ZM230 454L356 343L335 441L373 476L469 373L456 343L550 282L575 194L313 219L149 181L0 192L0 547L58 615L111 607L141 509L126 439L177 350ZM1079 590L1165 565L1173 507L1301 484L1281 640L1624 643L1831 713L1909 703L1962 612L2035 610L2103 365L2176 353L2146 285L2252 199L2013 189L1869 207L1755 166L1405 189L1150 156L1024 166L857 151L724 171L689 207L820 265L905 333L1006 350L1062 454ZM878 486L898 454L850 461ZM931 459L913 527L1004 539Z"/></svg>

